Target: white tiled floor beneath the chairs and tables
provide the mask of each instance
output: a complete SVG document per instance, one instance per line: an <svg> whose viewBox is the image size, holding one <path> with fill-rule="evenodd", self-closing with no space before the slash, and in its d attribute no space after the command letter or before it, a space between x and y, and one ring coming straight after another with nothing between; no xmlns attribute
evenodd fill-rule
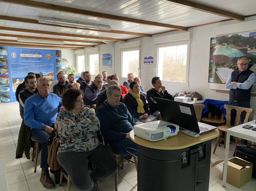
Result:
<svg viewBox="0 0 256 191"><path fill-rule="evenodd" d="M9 191L43 191L45 189L40 181L40 157L38 159L37 172L34 173L34 162L26 157L21 159L15 159L16 144L18 139L19 127L22 122L19 116L19 106L17 102L12 103L0 103L0 158L5 159L7 181ZM215 145L216 139L213 140L212 146ZM213 147L212 147L213 152ZM217 147L215 154L211 156L211 162L219 159L224 160L225 149L223 146ZM230 144L230 155L234 152L234 144ZM24 155L25 156L25 155ZM256 179L240 189L227 184L222 187L222 164L211 168L210 170L210 191L256 191ZM52 174L51 174L52 176ZM100 186L102 191L114 191L115 190L115 178L111 176L108 179L101 180ZM0 185L1 186L1 185ZM1 190L1 188L0 188ZM49 189L56 191L66 191L67 184ZM77 189L71 185L71 190ZM125 164L124 169L118 170L118 190L119 191L136 191L137 190L137 172L133 163Z"/></svg>

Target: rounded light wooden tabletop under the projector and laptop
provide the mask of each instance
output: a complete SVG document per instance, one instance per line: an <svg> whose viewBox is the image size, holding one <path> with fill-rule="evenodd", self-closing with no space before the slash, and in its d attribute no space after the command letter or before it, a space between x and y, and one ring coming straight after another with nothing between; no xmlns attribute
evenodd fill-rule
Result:
<svg viewBox="0 0 256 191"><path fill-rule="evenodd" d="M148 141L138 136L134 136L134 132L132 130L130 132L130 138L133 142L145 147L152 148L152 149L176 150L176 149L184 149L189 146L214 139L219 135L219 131L217 129L215 129L214 131L210 131L208 133L199 135L199 137L190 137L188 135L181 133L181 131L182 129L180 129L177 135L168 137L166 140L162 139L160 141Z"/></svg>

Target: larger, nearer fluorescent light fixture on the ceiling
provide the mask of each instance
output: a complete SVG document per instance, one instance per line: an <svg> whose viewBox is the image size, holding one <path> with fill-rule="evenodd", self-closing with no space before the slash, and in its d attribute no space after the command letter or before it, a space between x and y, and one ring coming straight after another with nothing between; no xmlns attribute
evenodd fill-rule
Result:
<svg viewBox="0 0 256 191"><path fill-rule="evenodd" d="M69 26L69 27L97 29L97 30L104 30L104 31L111 30L111 27L109 25L71 21L71 20L64 20L64 19L55 19L55 18L41 17L41 16L38 17L38 22L46 23L46 24L57 24L57 25Z"/></svg>

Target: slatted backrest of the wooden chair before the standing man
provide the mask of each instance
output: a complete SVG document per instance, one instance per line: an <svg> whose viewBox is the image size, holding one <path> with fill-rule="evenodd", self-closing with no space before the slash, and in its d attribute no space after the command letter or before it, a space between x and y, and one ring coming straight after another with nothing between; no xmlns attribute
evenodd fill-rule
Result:
<svg viewBox="0 0 256 191"><path fill-rule="evenodd" d="M241 116L241 112L245 111L246 112L246 116L244 121L241 121L241 123L247 123L249 121L249 117L251 115L251 113L253 112L253 109L251 108L245 108L245 107L238 107L238 106L233 106L233 105L225 105L224 106L227 112L227 116L226 116L226 120L227 120L227 126L230 126L230 114L231 114L231 110L235 109L237 111L237 116L236 116L236 121L234 126L239 125L239 121L240 121L240 116Z"/></svg>

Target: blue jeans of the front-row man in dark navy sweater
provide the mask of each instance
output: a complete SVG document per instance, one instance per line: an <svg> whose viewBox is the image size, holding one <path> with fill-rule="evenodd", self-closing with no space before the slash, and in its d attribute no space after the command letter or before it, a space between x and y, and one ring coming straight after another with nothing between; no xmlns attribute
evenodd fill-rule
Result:
<svg viewBox="0 0 256 191"><path fill-rule="evenodd" d="M137 155L138 154L138 144L134 143L130 138L122 139L122 140L116 140L111 145L112 150L114 153L119 155ZM132 148L132 149L129 149ZM128 153L127 151L130 153ZM135 150L133 150L135 149Z"/></svg>

